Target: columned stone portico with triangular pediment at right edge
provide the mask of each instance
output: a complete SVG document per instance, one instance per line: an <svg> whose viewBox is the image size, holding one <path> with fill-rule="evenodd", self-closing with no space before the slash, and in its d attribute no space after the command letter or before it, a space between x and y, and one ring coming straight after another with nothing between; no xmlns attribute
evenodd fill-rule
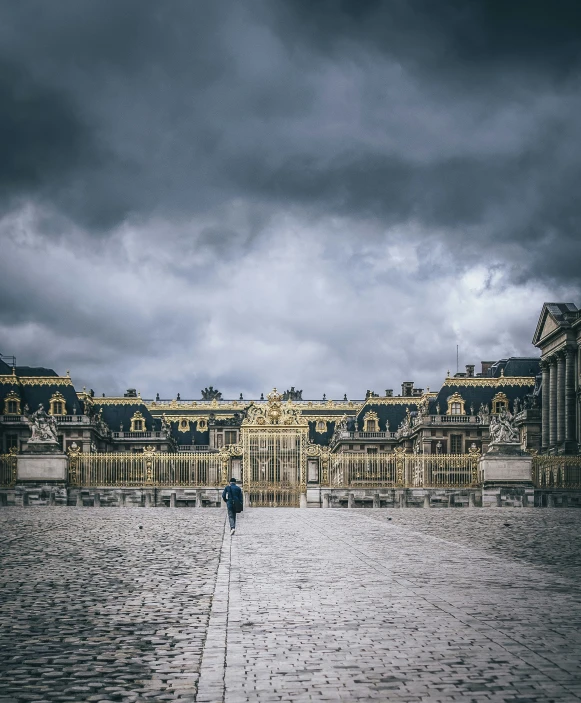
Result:
<svg viewBox="0 0 581 703"><path fill-rule="evenodd" d="M542 451L579 451L581 311L573 303L545 303L533 338L541 350Z"/></svg>

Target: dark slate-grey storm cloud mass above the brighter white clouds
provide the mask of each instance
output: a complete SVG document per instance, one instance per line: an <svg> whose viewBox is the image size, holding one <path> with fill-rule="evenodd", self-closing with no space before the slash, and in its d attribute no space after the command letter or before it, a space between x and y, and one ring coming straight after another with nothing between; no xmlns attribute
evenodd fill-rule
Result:
<svg viewBox="0 0 581 703"><path fill-rule="evenodd" d="M241 195L262 217L299 206L385 226L416 218L450 228L452 243L455 231L487 224L480 251L507 236L533 242L530 275L576 277L553 242L581 254L578 3L76 0L2 13L9 196L43 199L95 231ZM344 98L331 90L325 110L317 94L349 65L379 141L366 141L365 117L325 129ZM393 114L402 96L381 93L394 65L399 87L413 82L419 93L407 109L425 111L407 128ZM545 115L533 99L544 92L556 104ZM414 154L434 107L449 125L429 155ZM540 114L528 139L517 119L487 153L481 123L503 108ZM472 148L450 148L455 132L468 141L471 130ZM232 233L218 234L220 249Z"/></svg>

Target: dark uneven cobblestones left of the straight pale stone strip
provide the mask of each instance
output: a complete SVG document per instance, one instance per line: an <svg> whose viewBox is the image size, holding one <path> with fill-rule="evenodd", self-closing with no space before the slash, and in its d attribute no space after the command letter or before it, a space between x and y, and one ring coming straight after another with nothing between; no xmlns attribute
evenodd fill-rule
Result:
<svg viewBox="0 0 581 703"><path fill-rule="evenodd" d="M219 510L0 510L0 703L194 700Z"/></svg>

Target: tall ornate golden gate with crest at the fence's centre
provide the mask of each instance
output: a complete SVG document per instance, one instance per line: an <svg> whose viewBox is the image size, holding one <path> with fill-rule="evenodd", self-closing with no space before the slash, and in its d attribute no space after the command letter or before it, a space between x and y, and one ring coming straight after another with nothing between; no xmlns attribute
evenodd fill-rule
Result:
<svg viewBox="0 0 581 703"><path fill-rule="evenodd" d="M243 488L251 507L298 507L306 492L309 423L276 388L242 423Z"/></svg>

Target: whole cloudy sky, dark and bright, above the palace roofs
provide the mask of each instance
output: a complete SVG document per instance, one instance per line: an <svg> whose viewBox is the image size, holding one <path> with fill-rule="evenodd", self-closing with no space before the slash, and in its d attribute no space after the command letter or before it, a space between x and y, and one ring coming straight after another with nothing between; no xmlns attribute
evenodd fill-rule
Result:
<svg viewBox="0 0 581 703"><path fill-rule="evenodd" d="M361 398L581 303L578 0L0 2L0 352Z"/></svg>

